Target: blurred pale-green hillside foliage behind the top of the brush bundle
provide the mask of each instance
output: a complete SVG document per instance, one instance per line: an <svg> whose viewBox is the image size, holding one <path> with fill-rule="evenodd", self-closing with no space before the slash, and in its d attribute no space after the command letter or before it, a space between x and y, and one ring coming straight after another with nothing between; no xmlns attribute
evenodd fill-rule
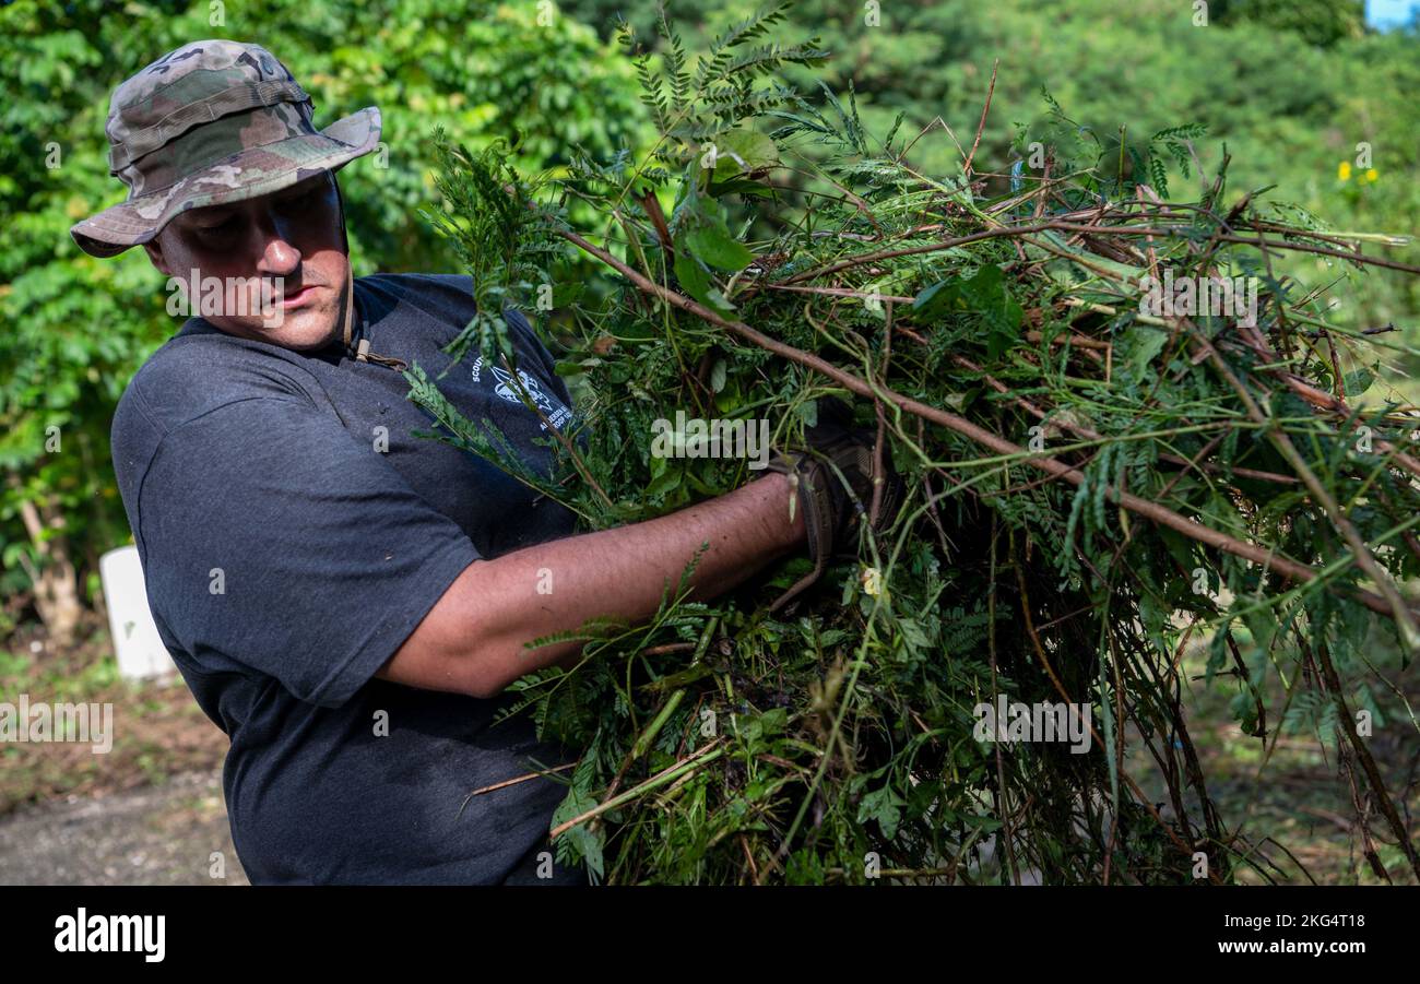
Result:
<svg viewBox="0 0 1420 984"><path fill-rule="evenodd" d="M834 55L822 70L787 72L808 89L816 80L841 94L851 84L870 132L886 133L899 112L912 133L940 118L970 148L998 60L978 173L1004 176L1022 156L1017 126L1044 122L1045 88L1105 139L1118 139L1127 125L1135 146L1160 129L1198 124L1208 135L1194 146L1204 173L1213 173L1225 145L1235 187L1272 185L1275 200L1322 214L1335 229L1409 236L1420 224L1416 35L1365 34L1360 0L1213 0L1207 27L1194 26L1189 0L892 0L876 4L870 26L873 6L795 4L795 24ZM653 35L653 3L577 0L569 7L605 26L608 37L616 11L642 37ZM754 0L728 0L707 17L696 0L667 0L694 50L754 9ZM943 173L960 160L956 142L924 138L913 159L927 173ZM1358 143L1370 145L1373 179L1356 166ZM1177 169L1173 175L1181 177ZM1416 246L1392 256L1420 263ZM1309 281L1333 275L1311 260L1295 270ZM1382 273L1363 293L1342 291L1336 301L1345 324L1409 324L1420 285ZM1407 392L1420 402L1420 389Z"/></svg>

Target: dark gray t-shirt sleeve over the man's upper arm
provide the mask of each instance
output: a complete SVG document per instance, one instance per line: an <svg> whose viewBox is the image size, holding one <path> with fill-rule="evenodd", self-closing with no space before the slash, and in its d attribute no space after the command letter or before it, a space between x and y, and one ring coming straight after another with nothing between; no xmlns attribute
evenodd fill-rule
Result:
<svg viewBox="0 0 1420 984"><path fill-rule="evenodd" d="M139 503L149 605L197 667L325 707L479 559L378 450L300 400L240 399L173 429Z"/></svg>

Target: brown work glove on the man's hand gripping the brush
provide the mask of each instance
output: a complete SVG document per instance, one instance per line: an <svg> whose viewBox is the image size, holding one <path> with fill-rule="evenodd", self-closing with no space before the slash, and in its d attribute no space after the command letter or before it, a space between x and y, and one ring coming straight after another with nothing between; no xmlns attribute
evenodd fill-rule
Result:
<svg viewBox="0 0 1420 984"><path fill-rule="evenodd" d="M804 511L814 569L770 605L771 612L818 581L829 561L858 557L859 525L873 501L875 440L873 429L853 426L848 403L826 398L818 400L818 423L804 432L802 444L774 449L768 467L790 476L791 483L798 480L797 505ZM882 501L873 532L888 528L902 497L902 480L885 449Z"/></svg>

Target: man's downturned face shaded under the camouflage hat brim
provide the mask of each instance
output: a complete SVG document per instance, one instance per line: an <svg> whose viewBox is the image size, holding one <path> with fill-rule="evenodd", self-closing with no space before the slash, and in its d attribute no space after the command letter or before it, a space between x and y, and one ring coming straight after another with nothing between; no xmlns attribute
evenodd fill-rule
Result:
<svg viewBox="0 0 1420 984"><path fill-rule="evenodd" d="M207 300L189 295L189 312L230 335L297 351L338 337L349 267L329 170L257 199L185 212L145 248L189 294L196 273ZM222 298L219 314L203 307L212 297Z"/></svg>

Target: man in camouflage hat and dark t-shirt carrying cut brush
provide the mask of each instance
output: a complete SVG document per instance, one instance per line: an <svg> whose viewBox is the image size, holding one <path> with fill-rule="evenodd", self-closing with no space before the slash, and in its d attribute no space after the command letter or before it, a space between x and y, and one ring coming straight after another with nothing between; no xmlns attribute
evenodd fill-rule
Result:
<svg viewBox="0 0 1420 984"><path fill-rule="evenodd" d="M220 311L200 308L135 375L112 450L158 629L231 738L237 853L258 883L585 882L561 866L540 878L565 787L531 775L575 750L538 743L521 716L494 720L510 683L579 645L523 643L648 618L704 541L700 596L805 538L821 571L853 530L849 497L819 457L780 454L720 498L571 535L559 504L413 437L430 419L399 369L449 365L470 281L354 278L335 172L375 149L379 111L324 131L311 112L261 47L178 48L112 98L128 200L71 230L94 256L141 244L183 284L224 285ZM506 319L517 365L463 363L440 388L548 473L532 439L567 427L571 398L525 319ZM541 392L538 412L508 399L511 372ZM855 494L870 490L862 432L815 442Z"/></svg>

